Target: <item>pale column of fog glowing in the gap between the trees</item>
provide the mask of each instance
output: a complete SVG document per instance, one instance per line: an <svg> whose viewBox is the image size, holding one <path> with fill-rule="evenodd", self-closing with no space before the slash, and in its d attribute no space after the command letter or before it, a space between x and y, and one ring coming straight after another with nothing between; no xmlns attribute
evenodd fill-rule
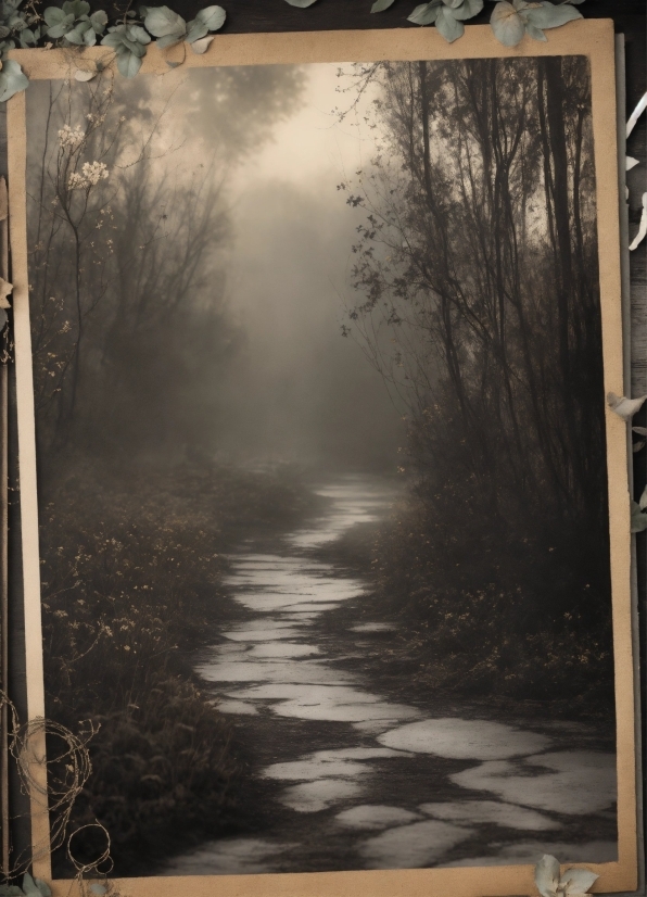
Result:
<svg viewBox="0 0 647 897"><path fill-rule="evenodd" d="M338 184L371 143L339 124L337 66L308 66L301 108L231 177L227 303L243 334L219 384L220 452L394 468L401 413L341 336L360 220Z"/></svg>

